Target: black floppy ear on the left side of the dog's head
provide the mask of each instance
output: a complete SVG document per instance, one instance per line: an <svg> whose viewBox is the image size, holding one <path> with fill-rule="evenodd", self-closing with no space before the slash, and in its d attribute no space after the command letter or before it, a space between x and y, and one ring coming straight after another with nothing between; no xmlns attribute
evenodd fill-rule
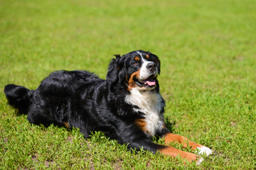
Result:
<svg viewBox="0 0 256 170"><path fill-rule="evenodd" d="M113 87L116 84L120 84L125 80L126 70L124 68L124 63L120 55L115 55L109 64L106 79Z"/></svg>

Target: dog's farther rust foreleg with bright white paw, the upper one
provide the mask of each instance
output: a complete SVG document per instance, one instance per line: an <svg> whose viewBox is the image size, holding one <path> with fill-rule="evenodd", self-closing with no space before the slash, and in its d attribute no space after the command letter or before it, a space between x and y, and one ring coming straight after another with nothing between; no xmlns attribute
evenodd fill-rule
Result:
<svg viewBox="0 0 256 170"><path fill-rule="evenodd" d="M166 135L164 135L164 141L166 144L169 144L170 142L178 142L183 145L183 147L191 147L191 149L198 149L198 154L206 154L207 156L212 154L212 150L208 147L205 147L203 145L197 144L195 142L192 142L188 140L186 137L183 137L181 135L175 135L171 132L167 132Z"/></svg>

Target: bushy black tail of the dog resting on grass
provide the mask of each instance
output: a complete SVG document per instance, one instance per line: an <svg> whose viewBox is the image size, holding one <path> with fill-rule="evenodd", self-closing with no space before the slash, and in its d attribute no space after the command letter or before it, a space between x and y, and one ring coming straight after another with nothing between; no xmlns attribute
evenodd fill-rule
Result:
<svg viewBox="0 0 256 170"><path fill-rule="evenodd" d="M14 108L18 108L18 113L28 113L28 108L31 103L33 91L30 91L23 86L8 84L4 88L4 94L6 95L9 104Z"/></svg>

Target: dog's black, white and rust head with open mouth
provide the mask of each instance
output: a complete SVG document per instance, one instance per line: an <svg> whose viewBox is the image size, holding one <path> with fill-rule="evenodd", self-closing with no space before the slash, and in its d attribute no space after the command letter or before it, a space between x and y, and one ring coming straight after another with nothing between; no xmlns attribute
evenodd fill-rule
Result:
<svg viewBox="0 0 256 170"><path fill-rule="evenodd" d="M160 61L151 52L142 50L129 52L122 57L112 59L107 72L107 81L112 89L117 85L126 86L128 90L152 90L158 86L156 79L160 74Z"/></svg>

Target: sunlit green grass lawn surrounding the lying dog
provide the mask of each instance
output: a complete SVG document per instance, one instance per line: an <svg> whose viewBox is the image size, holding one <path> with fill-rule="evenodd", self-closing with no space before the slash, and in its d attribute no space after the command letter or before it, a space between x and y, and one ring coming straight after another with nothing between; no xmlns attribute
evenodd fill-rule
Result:
<svg viewBox="0 0 256 170"><path fill-rule="evenodd" d="M252 0L0 1L0 169L255 169L255 8ZM114 54L139 49L160 57L171 129L213 149L201 166L129 152L100 132L85 140L79 130L31 125L6 105L6 84L36 89L58 69L105 78Z"/></svg>

